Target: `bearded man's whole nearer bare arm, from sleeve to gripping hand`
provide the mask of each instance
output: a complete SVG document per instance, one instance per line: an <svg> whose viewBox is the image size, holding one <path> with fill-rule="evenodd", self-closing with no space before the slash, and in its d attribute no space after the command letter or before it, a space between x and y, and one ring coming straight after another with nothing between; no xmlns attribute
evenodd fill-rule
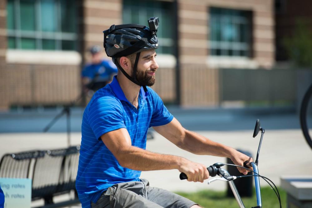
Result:
<svg viewBox="0 0 312 208"><path fill-rule="evenodd" d="M178 169L187 174L188 181L194 182L203 182L209 177L206 167L202 164L132 146L129 133L125 128L105 133L101 139L123 167L141 171Z"/></svg>

